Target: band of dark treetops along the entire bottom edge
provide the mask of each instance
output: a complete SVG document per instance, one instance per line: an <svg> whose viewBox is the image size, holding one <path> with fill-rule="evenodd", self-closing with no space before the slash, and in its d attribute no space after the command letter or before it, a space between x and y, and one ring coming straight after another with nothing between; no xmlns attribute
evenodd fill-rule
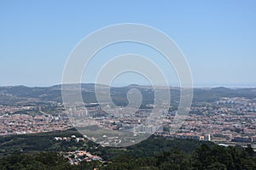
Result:
<svg viewBox="0 0 256 170"><path fill-rule="evenodd" d="M147 148L144 148L145 150ZM148 148L150 150L150 148ZM131 152L126 152L114 156L107 165L99 161L90 163L82 161L78 166L70 165L67 159L64 159L55 152L38 152L26 154L14 154L4 156L0 159L1 170L43 170L43 169L211 169L211 170L234 170L234 169L256 169L256 156L253 149L248 146L247 149L241 147L223 147L217 144L209 145L202 143L192 153L185 153L180 149L169 151L160 151L153 156L136 157Z"/></svg>

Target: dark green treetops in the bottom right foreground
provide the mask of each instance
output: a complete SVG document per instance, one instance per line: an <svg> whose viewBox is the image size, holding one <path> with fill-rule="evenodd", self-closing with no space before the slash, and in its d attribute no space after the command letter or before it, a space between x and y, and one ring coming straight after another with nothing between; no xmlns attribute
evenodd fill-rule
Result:
<svg viewBox="0 0 256 170"><path fill-rule="evenodd" d="M103 169L198 169L198 170L240 170L256 169L256 156L248 145L224 147L214 144L201 144L191 154L180 149L163 151L154 156L135 158L130 155L116 156L113 163Z"/></svg>

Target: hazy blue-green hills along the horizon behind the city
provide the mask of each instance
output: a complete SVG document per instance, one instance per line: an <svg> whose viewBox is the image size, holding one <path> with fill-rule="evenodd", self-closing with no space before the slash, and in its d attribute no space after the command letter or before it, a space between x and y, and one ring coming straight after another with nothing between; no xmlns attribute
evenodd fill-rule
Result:
<svg viewBox="0 0 256 170"><path fill-rule="evenodd" d="M94 83L66 84L63 87L74 89L81 87L84 102L96 102ZM102 89L108 89L106 85L97 85ZM0 105L19 105L36 102L62 102L62 85L51 87L33 87L26 86L8 86L0 87ZM114 102L118 105L126 105L126 94L131 88L137 88L143 94L145 104L154 102L154 88L151 86L131 84L125 87L111 87L111 95ZM161 88L161 87L156 87ZM172 101L179 101L179 88L170 88ZM256 88L195 88L194 101L216 101L221 97L246 97L248 99L256 98Z"/></svg>

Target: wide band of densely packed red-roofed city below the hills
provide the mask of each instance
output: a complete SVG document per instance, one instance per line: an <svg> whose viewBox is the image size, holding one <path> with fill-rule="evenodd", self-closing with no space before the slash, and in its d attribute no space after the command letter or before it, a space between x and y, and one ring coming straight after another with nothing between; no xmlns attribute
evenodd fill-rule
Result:
<svg viewBox="0 0 256 170"><path fill-rule="evenodd" d="M179 139L256 143L256 101L253 99L236 97L222 98L217 102L194 102L189 115L183 117L185 121L175 133L170 133L169 130L174 117L178 116L177 109L159 111L160 114L150 117L151 107L135 112L120 109L109 114L96 103L84 106L81 110L65 111L63 105L58 105L56 109L62 112L55 116L11 114L15 111L31 110L33 106L0 106L0 135L65 130L75 123L75 127L96 125L117 132L129 131L135 136L156 133ZM108 135L102 136L102 139L117 142L122 140Z"/></svg>

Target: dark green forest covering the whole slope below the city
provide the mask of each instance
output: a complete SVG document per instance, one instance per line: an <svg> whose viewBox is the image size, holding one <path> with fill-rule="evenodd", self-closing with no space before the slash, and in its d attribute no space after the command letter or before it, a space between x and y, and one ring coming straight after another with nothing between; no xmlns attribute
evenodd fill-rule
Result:
<svg viewBox="0 0 256 170"><path fill-rule="evenodd" d="M56 135L71 134L79 135L68 130L0 138L0 169L256 169L256 153L250 145L224 147L212 142L156 136L125 148L100 147L90 141L83 144L53 140ZM11 150L14 146L18 148ZM86 149L105 162L81 161L71 165L61 151L72 149Z"/></svg>

